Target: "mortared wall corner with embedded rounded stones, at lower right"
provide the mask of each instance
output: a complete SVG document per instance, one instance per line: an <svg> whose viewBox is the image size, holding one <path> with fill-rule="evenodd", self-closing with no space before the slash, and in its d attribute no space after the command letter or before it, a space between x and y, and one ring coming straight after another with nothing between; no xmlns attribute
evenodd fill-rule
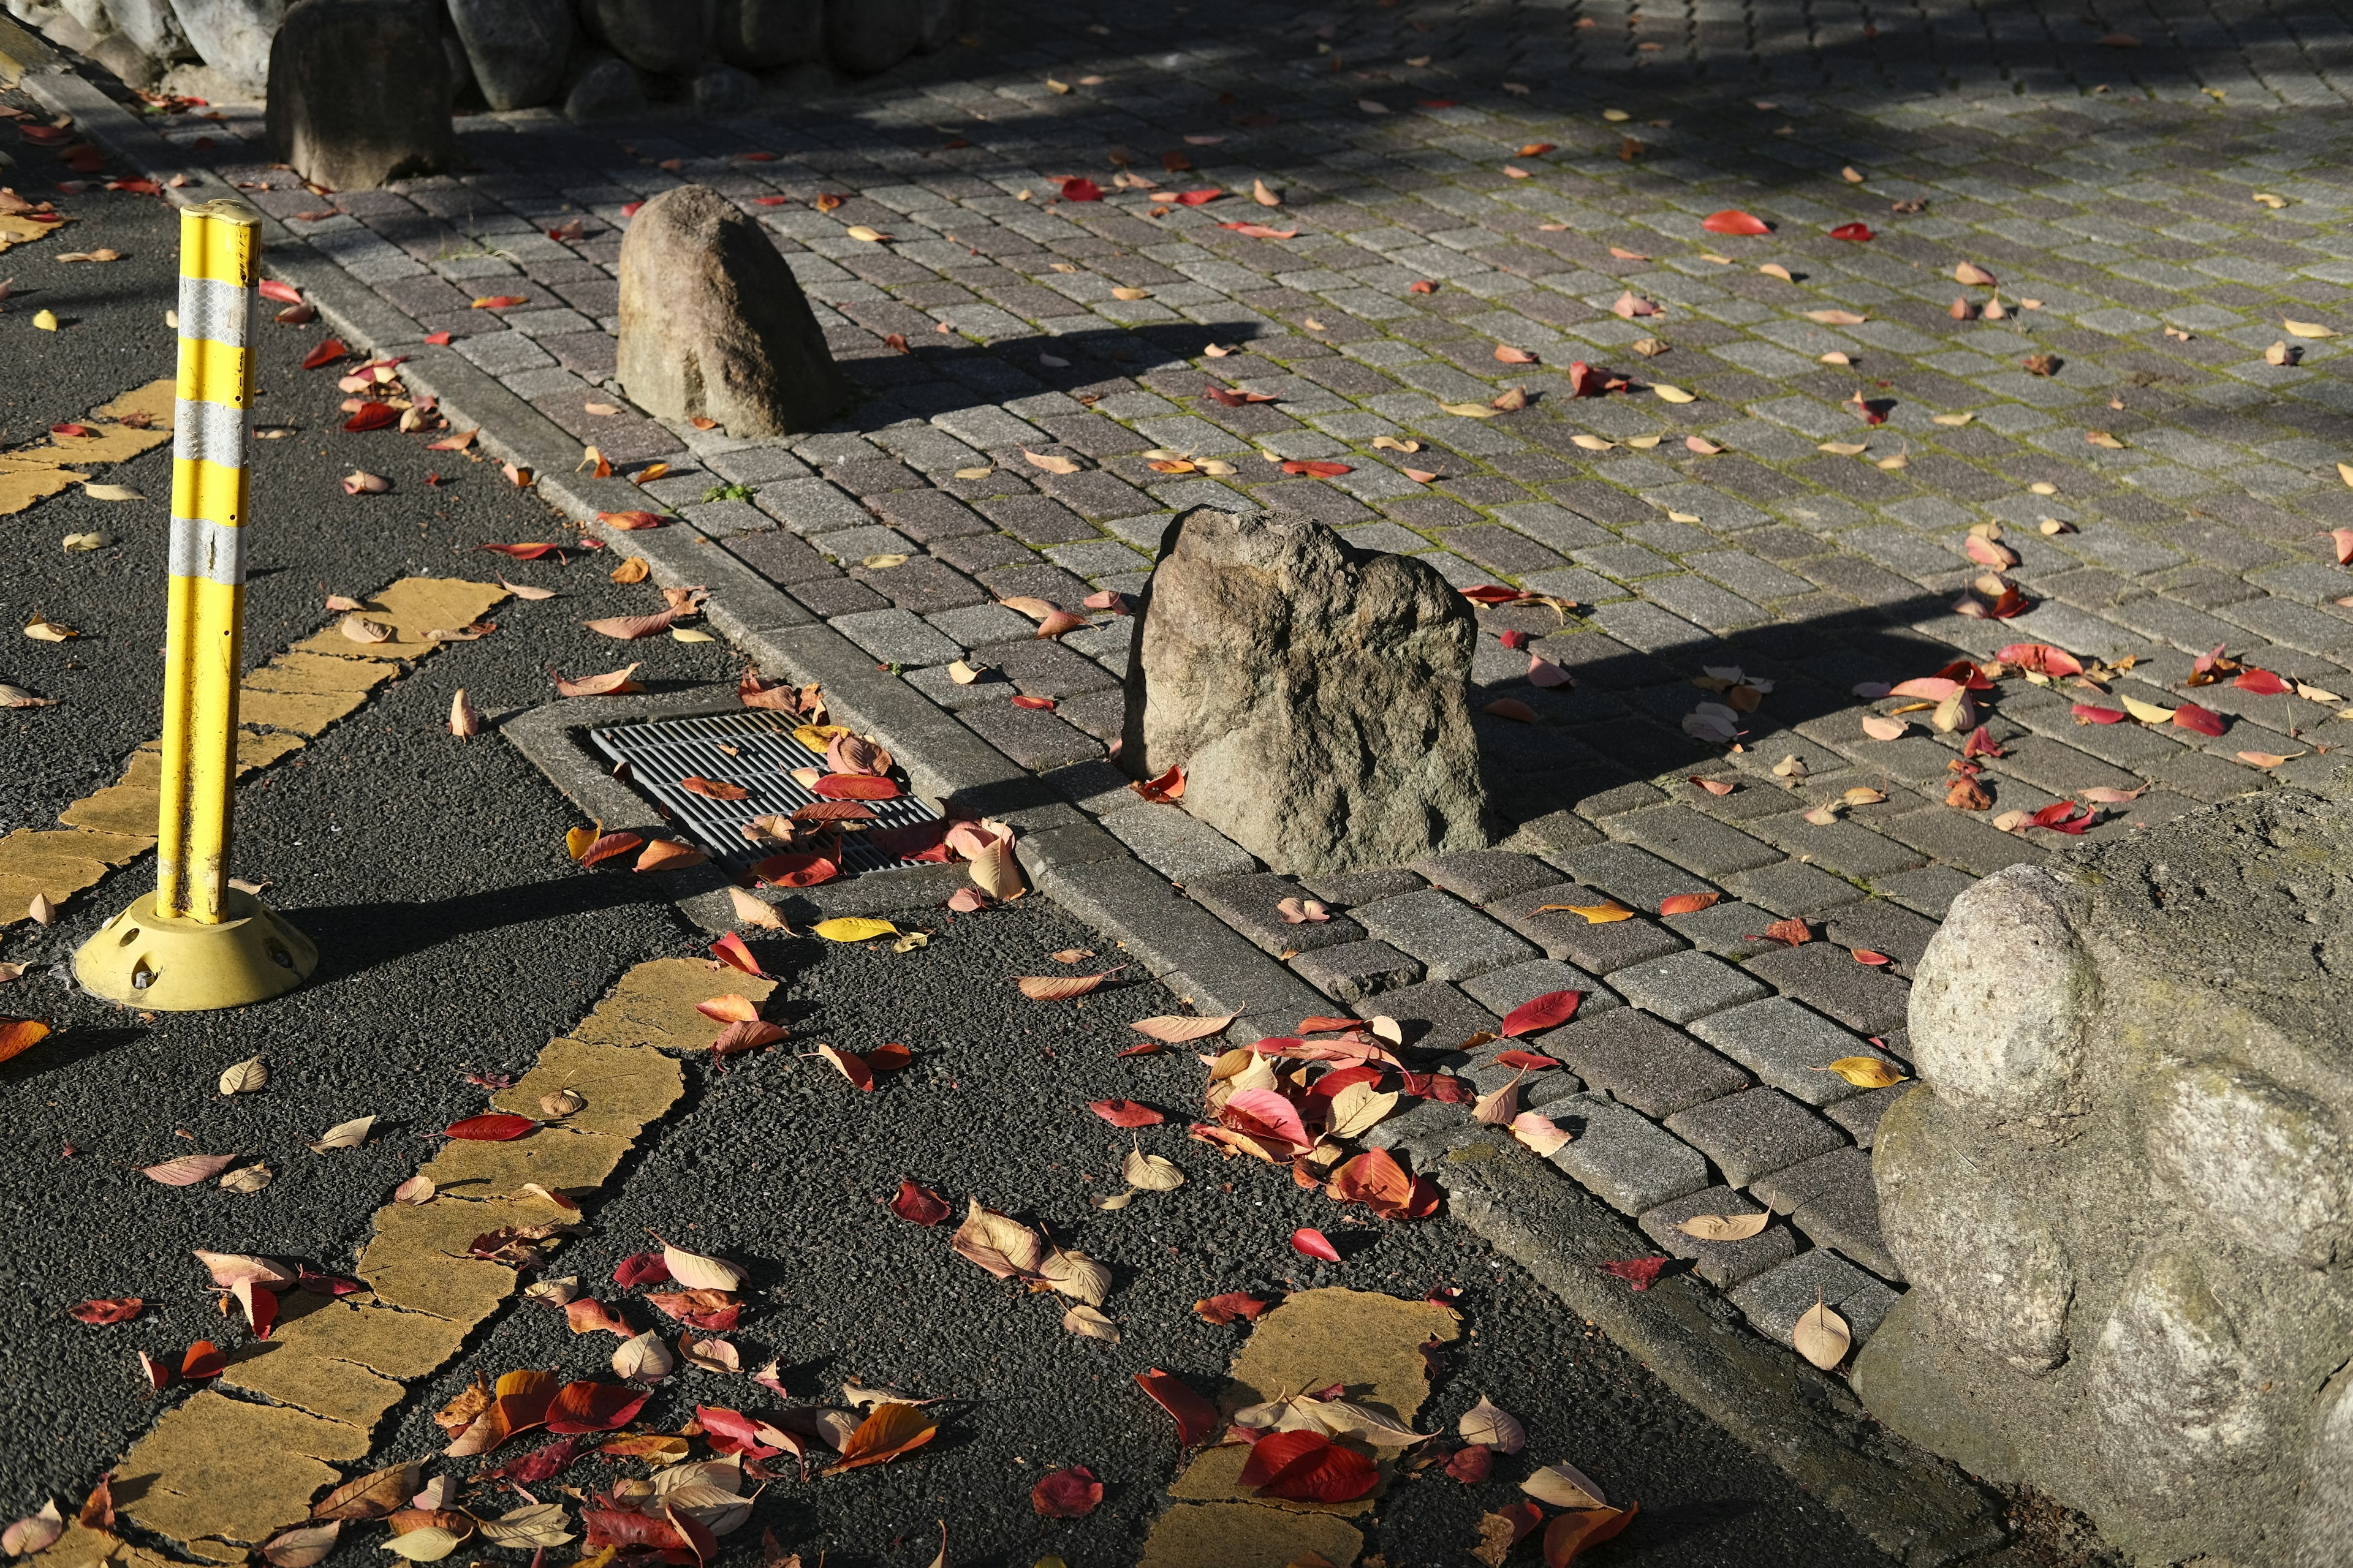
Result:
<svg viewBox="0 0 2353 1568"><path fill-rule="evenodd" d="M2348 961L2353 809L2299 792L1962 893L1873 1152L1915 1286L1857 1366L1873 1413L2148 1561L2327 1561Z"/></svg>

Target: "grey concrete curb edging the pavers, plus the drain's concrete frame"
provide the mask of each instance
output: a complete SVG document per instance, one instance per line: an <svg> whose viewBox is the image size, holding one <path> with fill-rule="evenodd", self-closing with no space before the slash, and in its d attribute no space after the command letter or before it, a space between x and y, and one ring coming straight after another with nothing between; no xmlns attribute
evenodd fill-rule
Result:
<svg viewBox="0 0 2353 1568"><path fill-rule="evenodd" d="M184 174L186 186L167 186L172 202L235 195L209 172L181 169L162 136L87 80L26 73L21 87L54 113L71 113L82 132L158 183ZM402 376L438 397L452 425L473 423L485 454L532 468L536 489L551 505L619 552L645 557L656 583L708 588L704 614L753 656L762 675L821 684L838 717L887 741L918 792L1021 827L1016 853L1038 891L1113 936L1153 978L1202 1013L1240 1013L1235 1034L1247 1032L1252 1039L1287 1032L1299 1018L1329 1006L1320 992L1184 898L1181 889L1136 860L1049 785L880 670L864 649L720 550L685 517L673 517L661 529L628 531L598 522L607 510L642 508L645 494L626 480L584 480L569 473L579 442L546 414L464 355L424 343L412 320L275 219L264 216L261 235L271 275L296 284L346 341L372 353L407 355ZM508 717L501 733L593 820L624 823L642 820L645 802L598 771L572 741L574 731L736 710L732 701L708 696L567 698ZM720 898L725 879L715 870L699 870L701 875L685 872L692 882L673 884L680 907L706 929L732 929ZM812 903L828 914L934 903L953 891L946 886L951 879L936 877L939 870L896 872L880 886L875 877L861 877ZM918 882L944 886L934 891ZM962 884L960 872L953 884ZM864 893L849 891L861 886ZM1266 1020L1264 1030L1254 1027L1259 1018ZM1602 1328L1680 1399L1838 1509L1882 1552L1906 1568L1944 1568L2002 1542L1988 1493L1953 1465L1871 1422L1845 1385L1748 1333L1729 1302L1682 1279L1645 1293L1617 1281L1602 1288L1607 1276L1593 1269L1595 1260L1649 1253L1652 1246L1595 1199L1569 1182L1544 1178L1518 1159L1515 1147L1461 1159L1480 1147L1482 1128L1435 1114L1424 1119L1421 1131L1405 1126L1414 1119L1419 1117L1400 1119L1391 1143L1407 1147L1417 1166L1440 1178L1457 1220L1534 1274L1565 1307Z"/></svg>

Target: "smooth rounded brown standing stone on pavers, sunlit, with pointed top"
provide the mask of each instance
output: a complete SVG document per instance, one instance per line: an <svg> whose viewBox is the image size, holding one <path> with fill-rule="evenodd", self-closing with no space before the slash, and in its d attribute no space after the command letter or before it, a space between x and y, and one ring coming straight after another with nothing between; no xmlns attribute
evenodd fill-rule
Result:
<svg viewBox="0 0 2353 1568"><path fill-rule="evenodd" d="M656 195L628 226L619 376L647 411L739 437L812 430L849 400L793 268L704 186Z"/></svg>

